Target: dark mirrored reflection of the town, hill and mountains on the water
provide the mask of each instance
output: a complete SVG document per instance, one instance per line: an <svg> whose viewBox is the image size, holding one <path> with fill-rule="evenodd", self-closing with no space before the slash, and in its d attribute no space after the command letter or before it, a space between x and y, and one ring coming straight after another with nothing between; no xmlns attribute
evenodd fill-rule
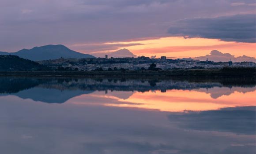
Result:
<svg viewBox="0 0 256 154"><path fill-rule="evenodd" d="M110 91L112 95L120 99L128 99L134 92L161 91L164 93L168 90L182 90L186 93L186 90L203 92L210 94L213 99L218 99L222 95L231 95L235 92L254 92L255 82L237 86L235 82L222 84L216 81L0 77L0 95L16 95L23 99L33 99L45 103L64 103L75 96L90 94L95 91L105 91L105 94ZM121 94L118 92L128 93Z"/></svg>

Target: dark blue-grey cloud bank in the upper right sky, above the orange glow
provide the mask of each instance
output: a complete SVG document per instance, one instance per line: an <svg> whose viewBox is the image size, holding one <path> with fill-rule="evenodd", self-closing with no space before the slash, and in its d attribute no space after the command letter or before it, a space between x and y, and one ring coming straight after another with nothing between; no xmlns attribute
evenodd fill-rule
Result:
<svg viewBox="0 0 256 154"><path fill-rule="evenodd" d="M168 33L176 36L255 43L256 15L183 19L173 23Z"/></svg>

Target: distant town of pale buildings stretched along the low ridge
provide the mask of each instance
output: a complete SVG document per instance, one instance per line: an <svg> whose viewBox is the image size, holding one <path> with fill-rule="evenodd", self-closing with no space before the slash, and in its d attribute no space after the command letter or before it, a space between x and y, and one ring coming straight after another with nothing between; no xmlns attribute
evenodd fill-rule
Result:
<svg viewBox="0 0 256 154"><path fill-rule="evenodd" d="M86 59L55 59L39 61L40 64L49 66L53 69L71 68L76 70L147 70L152 63L162 70L171 69L209 69L230 67L256 67L255 62L212 62L208 59L200 61L195 59L167 59L162 56L159 59L151 59L149 57L140 56L137 58L86 58Z"/></svg>

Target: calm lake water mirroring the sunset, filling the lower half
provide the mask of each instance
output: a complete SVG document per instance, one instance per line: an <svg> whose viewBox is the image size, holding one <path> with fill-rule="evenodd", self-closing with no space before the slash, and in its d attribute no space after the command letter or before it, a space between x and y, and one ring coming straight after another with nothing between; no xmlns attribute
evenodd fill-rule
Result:
<svg viewBox="0 0 256 154"><path fill-rule="evenodd" d="M0 77L1 154L255 154L255 84Z"/></svg>

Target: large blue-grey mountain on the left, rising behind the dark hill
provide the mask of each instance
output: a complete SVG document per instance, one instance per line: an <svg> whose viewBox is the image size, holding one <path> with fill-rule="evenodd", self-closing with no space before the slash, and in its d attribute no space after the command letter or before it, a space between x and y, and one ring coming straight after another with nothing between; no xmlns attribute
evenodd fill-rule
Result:
<svg viewBox="0 0 256 154"><path fill-rule="evenodd" d="M92 55L83 54L70 50L64 45L45 45L41 47L34 47L32 49L22 49L17 52L0 52L0 55L17 55L24 59L34 61L59 59L63 58L95 58Z"/></svg>

